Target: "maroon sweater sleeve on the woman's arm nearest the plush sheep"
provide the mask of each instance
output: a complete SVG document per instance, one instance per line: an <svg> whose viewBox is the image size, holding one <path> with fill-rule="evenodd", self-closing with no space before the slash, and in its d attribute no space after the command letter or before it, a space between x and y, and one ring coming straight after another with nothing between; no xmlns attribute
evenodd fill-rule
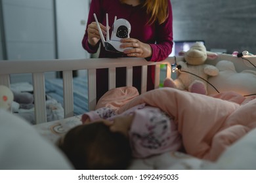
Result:
<svg viewBox="0 0 256 183"><path fill-rule="evenodd" d="M168 1L168 18L157 27L156 44L150 44L152 56L147 61L161 61L166 59L173 49L173 12L171 1Z"/></svg>

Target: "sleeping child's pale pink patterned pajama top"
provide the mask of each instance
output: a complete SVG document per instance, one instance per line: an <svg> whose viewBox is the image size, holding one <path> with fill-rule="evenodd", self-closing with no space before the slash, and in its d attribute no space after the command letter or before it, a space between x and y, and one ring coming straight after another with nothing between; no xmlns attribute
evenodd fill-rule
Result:
<svg viewBox="0 0 256 183"><path fill-rule="evenodd" d="M114 120L117 116L134 115L129 130L129 141L135 158L146 158L167 151L179 150L182 146L181 135L173 119L159 108L137 105L122 114L116 114L112 108L98 108L83 114L85 120Z"/></svg>

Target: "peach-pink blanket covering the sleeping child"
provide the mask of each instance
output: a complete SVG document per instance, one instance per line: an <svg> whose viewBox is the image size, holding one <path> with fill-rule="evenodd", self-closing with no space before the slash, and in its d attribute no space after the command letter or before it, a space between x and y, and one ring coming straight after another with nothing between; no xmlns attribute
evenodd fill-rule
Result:
<svg viewBox="0 0 256 183"><path fill-rule="evenodd" d="M210 97L160 88L129 97L127 103L123 102L117 107L117 112L124 112L141 103L159 107L173 116L186 152L211 161L215 161L226 147L256 127L256 99L245 98L234 92Z"/></svg>

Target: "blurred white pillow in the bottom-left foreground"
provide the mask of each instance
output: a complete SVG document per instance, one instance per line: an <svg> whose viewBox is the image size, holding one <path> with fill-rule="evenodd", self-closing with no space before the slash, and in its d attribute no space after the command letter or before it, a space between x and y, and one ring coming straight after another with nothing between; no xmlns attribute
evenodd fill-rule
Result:
<svg viewBox="0 0 256 183"><path fill-rule="evenodd" d="M0 110L0 169L74 169L28 122Z"/></svg>

